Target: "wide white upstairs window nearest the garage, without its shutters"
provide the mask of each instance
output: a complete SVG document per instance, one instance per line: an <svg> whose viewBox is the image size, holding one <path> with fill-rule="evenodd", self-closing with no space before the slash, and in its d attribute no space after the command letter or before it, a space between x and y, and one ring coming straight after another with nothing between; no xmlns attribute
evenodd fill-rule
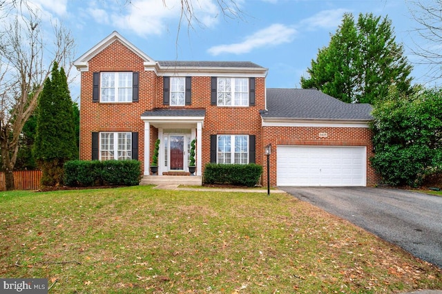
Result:
<svg viewBox="0 0 442 294"><path fill-rule="evenodd" d="M249 106L249 78L218 78L218 106Z"/></svg>

